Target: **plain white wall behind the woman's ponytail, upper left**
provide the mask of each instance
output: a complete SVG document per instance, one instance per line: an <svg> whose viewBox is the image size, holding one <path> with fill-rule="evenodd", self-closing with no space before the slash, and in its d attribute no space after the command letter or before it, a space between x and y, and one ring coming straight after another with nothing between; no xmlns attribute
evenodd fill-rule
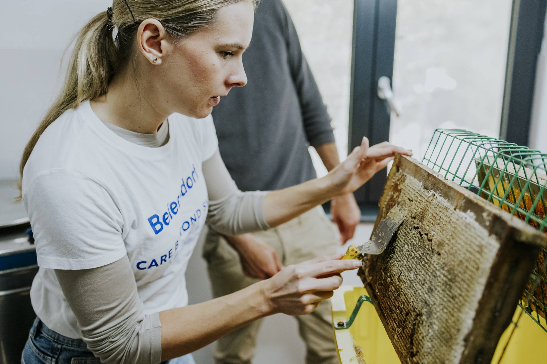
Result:
<svg viewBox="0 0 547 364"><path fill-rule="evenodd" d="M109 0L2 2L0 179L18 177L21 152L59 91L69 40Z"/></svg>

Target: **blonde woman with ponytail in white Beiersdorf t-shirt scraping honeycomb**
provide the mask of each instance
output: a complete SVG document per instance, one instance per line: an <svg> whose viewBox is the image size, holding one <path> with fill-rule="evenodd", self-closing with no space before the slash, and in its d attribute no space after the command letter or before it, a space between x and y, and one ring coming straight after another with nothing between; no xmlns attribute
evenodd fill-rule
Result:
<svg viewBox="0 0 547 364"><path fill-rule="evenodd" d="M22 363L193 363L189 353L252 320L312 312L360 266L324 257L187 306L184 273L206 218L225 234L276 226L409 155L363 138L324 178L238 191L210 113L246 83L254 6L114 0L80 32L65 89L21 161L40 266Z"/></svg>

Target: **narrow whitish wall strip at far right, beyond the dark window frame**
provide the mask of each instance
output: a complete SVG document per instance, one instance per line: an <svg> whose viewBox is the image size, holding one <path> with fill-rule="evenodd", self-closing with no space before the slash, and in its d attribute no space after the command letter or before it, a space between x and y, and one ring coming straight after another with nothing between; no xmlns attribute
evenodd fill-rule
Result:
<svg viewBox="0 0 547 364"><path fill-rule="evenodd" d="M547 17L542 50L538 57L529 146L547 153Z"/></svg>

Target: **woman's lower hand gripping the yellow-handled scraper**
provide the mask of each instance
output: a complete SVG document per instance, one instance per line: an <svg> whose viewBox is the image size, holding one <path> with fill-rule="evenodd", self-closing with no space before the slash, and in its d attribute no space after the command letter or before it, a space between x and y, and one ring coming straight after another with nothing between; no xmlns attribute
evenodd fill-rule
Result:
<svg viewBox="0 0 547 364"><path fill-rule="evenodd" d="M358 260L340 260L342 254L323 256L287 266L261 282L271 313L306 315L333 296L342 284L340 273L361 266Z"/></svg>

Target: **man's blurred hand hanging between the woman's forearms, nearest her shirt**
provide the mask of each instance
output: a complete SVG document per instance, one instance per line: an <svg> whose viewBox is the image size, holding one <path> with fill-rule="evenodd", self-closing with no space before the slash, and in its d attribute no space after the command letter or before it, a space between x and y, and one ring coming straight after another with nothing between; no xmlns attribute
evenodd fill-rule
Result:
<svg viewBox="0 0 547 364"><path fill-rule="evenodd" d="M236 249L243 273L248 277L270 278L283 268L275 249L253 234L226 237L226 240Z"/></svg>

